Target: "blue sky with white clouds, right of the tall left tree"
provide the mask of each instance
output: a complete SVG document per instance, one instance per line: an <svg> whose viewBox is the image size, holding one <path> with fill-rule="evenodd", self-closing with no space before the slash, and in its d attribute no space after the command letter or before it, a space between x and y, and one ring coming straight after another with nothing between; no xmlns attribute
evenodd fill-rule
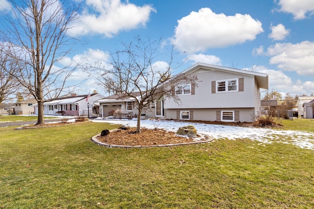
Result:
<svg viewBox="0 0 314 209"><path fill-rule="evenodd" d="M0 0L0 3L5 0ZM78 0L77 0L78 1ZM73 35L78 44L60 65L71 60L110 62L109 53L139 35L162 38L163 46L186 51L173 73L196 62L269 74L269 91L314 93L314 0L81 0ZM166 60L160 60L166 61ZM87 77L82 71L79 77ZM79 81L79 77L72 82ZM97 90L88 78L75 89Z"/></svg>

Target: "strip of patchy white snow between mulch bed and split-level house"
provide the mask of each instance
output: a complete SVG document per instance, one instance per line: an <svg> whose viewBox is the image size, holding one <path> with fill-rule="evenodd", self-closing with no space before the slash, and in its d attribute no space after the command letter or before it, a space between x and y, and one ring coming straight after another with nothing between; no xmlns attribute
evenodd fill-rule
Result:
<svg viewBox="0 0 314 209"><path fill-rule="evenodd" d="M98 117L94 122L107 122L136 127L136 119L112 119ZM212 125L204 123L178 122L169 120L141 120L141 127L161 128L176 132L179 127L194 125L197 133L207 134L213 139L252 139L262 143L291 143L298 147L314 150L314 134L304 131L281 131L267 128Z"/></svg>

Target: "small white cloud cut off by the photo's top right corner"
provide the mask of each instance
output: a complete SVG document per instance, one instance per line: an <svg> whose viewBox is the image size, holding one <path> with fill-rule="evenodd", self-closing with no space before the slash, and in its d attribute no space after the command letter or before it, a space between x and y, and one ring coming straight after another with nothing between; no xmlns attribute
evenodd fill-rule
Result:
<svg viewBox="0 0 314 209"><path fill-rule="evenodd" d="M306 18L306 14L314 14L313 0L279 0L279 11L291 13L295 20Z"/></svg>

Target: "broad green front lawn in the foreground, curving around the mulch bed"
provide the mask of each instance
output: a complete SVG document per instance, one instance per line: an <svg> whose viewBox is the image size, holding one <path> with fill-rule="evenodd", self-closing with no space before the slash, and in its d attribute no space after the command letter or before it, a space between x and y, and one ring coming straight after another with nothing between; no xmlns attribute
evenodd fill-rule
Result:
<svg viewBox="0 0 314 209"><path fill-rule="evenodd" d="M314 208L314 150L250 139L105 148L105 123L0 128L0 208Z"/></svg>

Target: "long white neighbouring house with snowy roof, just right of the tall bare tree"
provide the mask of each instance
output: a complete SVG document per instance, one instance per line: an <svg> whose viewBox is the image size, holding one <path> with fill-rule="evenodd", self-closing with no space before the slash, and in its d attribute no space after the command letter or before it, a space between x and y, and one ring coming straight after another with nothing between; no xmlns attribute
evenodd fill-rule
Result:
<svg viewBox="0 0 314 209"><path fill-rule="evenodd" d="M57 97L44 102L44 115L92 116L93 103L103 98L100 93ZM38 105L34 105L38 115Z"/></svg>

